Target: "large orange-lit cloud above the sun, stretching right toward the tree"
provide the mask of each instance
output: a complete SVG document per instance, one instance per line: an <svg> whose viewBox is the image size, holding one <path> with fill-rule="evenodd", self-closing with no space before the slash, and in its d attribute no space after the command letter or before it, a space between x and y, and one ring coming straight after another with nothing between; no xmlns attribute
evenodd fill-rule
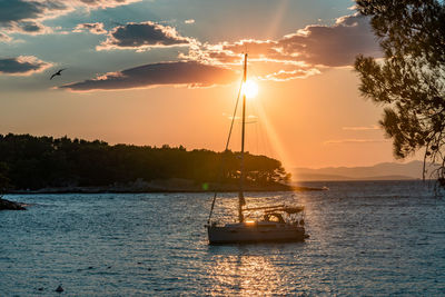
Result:
<svg viewBox="0 0 445 297"><path fill-rule="evenodd" d="M251 60L312 67L350 66L358 53L375 57L380 55L368 18L354 14L337 19L334 26L307 26L278 40L205 44L202 48L191 49L188 58L234 63L239 62L241 53L246 51Z"/></svg>

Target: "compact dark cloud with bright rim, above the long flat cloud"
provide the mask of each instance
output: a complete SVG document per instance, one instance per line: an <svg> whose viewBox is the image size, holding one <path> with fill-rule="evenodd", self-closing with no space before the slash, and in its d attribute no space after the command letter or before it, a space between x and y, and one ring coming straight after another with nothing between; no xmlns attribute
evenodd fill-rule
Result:
<svg viewBox="0 0 445 297"><path fill-rule="evenodd" d="M165 47L188 46L192 42L187 37L181 37L175 28L146 22L129 22L112 29L108 39L102 42L98 50L110 49L149 49Z"/></svg>

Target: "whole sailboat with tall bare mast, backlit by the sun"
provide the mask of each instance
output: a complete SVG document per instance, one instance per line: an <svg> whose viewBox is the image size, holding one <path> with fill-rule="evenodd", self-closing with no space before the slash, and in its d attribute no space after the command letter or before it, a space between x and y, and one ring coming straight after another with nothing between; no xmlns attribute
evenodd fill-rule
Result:
<svg viewBox="0 0 445 297"><path fill-rule="evenodd" d="M247 78L247 53L244 57L243 86ZM235 111L236 112L236 111ZM238 192L238 221L234 224L219 225L211 220L215 207L215 192L211 202L210 215L206 225L208 240L210 245L224 244L247 244L247 242L284 242L303 241L307 235L305 231L303 211L304 207L286 205L266 206L266 207L246 207L244 197L245 182L245 126L246 126L246 93L243 93L243 126L241 126L241 151L240 151L240 180ZM233 126L231 126L233 127ZM230 132L231 132L230 127ZM229 132L229 138L230 138ZM229 141L229 139L228 139ZM228 141L226 150L228 147ZM257 220L248 218L246 214L261 211L263 216ZM248 219L246 219L248 218Z"/></svg>

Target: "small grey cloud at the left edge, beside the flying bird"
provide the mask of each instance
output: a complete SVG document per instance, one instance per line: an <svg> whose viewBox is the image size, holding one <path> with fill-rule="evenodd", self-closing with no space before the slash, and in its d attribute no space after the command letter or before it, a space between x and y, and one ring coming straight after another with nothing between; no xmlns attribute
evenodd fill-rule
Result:
<svg viewBox="0 0 445 297"><path fill-rule="evenodd" d="M0 75L30 76L41 72L52 65L37 59L33 56L0 59Z"/></svg>

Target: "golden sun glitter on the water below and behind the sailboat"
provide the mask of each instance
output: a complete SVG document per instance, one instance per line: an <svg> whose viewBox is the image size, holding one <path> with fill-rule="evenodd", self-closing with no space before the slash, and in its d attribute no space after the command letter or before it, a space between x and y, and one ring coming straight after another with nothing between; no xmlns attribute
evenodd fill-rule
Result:
<svg viewBox="0 0 445 297"><path fill-rule="evenodd" d="M253 194L246 196L248 207L270 205L300 205L299 196L294 194ZM225 194L217 200L216 218L219 222L234 222L237 218L238 198L236 194ZM255 219L255 215L246 221ZM298 295L305 291L305 283L298 279L298 270L290 267L300 265L304 244L259 244L209 246L208 269L206 271L212 286L207 288L210 296L275 296ZM267 250L266 255L264 251ZM290 254L284 260L283 254ZM289 256L289 255L288 255ZM296 284L295 284L296 283ZM289 284L295 284L289 291Z"/></svg>

